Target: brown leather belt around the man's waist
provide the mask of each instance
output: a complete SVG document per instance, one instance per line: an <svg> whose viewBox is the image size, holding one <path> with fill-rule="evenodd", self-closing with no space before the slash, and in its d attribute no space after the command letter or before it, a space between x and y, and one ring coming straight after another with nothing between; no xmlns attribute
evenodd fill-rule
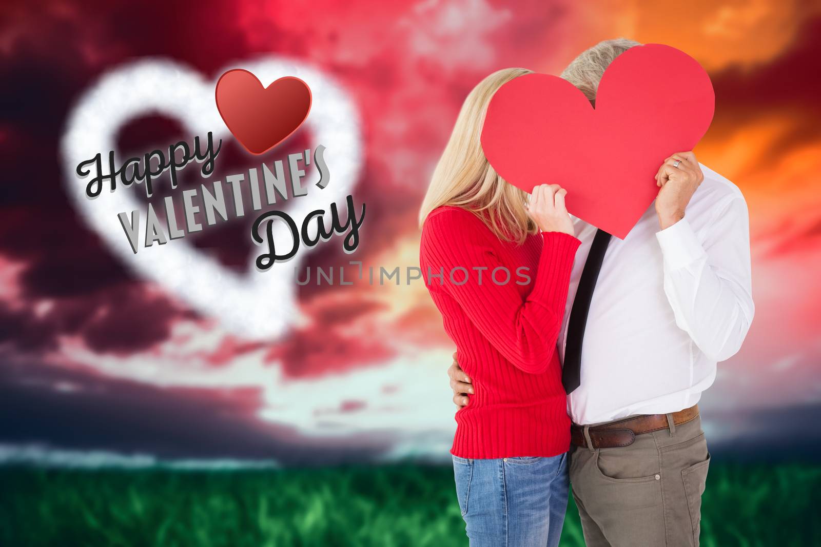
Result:
<svg viewBox="0 0 821 547"><path fill-rule="evenodd" d="M680 426L695 419L698 415L699 405L695 404L680 412L672 413L672 422ZM630 446L635 440L635 435L668 428L667 414L646 414L625 418L617 422L609 422L601 426L592 426L589 427L588 433L594 449L608 449L616 446ZM570 439L572 444L587 448L585 426L573 424L570 430Z"/></svg>

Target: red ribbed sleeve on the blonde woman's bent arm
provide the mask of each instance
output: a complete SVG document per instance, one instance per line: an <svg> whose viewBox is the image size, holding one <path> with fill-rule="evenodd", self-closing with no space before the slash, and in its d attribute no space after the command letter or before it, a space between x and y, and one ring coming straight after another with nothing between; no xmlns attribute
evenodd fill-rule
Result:
<svg viewBox="0 0 821 547"><path fill-rule="evenodd" d="M580 241L571 235L544 233L538 270L527 273L533 289L522 296L516 267L499 260L480 227L450 223L443 217L429 218L422 236L420 258L428 285L441 283L443 292L456 300L479 332L514 366L532 374L546 372L556 351ZM494 282L496 268L507 270L507 283ZM498 280L505 277L497 275Z"/></svg>

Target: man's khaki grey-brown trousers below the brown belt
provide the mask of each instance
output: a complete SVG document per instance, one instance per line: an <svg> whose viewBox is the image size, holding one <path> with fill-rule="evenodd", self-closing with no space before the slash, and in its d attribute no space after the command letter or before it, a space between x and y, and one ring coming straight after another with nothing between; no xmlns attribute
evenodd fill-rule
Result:
<svg viewBox="0 0 821 547"><path fill-rule="evenodd" d="M572 446L570 454L588 547L698 547L710 458L699 417L636 435L630 446Z"/></svg>

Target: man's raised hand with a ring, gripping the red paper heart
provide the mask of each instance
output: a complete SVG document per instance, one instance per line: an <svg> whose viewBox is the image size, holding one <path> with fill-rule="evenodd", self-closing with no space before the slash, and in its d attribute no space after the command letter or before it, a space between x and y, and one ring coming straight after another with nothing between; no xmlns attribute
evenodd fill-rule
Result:
<svg viewBox="0 0 821 547"><path fill-rule="evenodd" d="M656 173L656 214L662 230L684 218L690 198L704 180L698 160L692 152L679 152L664 160Z"/></svg>

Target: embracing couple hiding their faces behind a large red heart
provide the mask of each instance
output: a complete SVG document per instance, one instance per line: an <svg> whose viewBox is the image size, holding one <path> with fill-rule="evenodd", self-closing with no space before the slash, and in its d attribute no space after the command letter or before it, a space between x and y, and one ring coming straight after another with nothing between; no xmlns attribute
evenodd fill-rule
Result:
<svg viewBox="0 0 821 547"><path fill-rule="evenodd" d="M594 103L637 45L599 43L562 77ZM508 184L479 136L493 93L529 72L473 89L420 212L423 276L457 349L452 458L470 545L558 545L569 484L587 545L698 545L697 403L754 312L745 200L675 153L654 206L616 239L568 215L561 181L530 195ZM658 93L675 85L660 78Z"/></svg>

